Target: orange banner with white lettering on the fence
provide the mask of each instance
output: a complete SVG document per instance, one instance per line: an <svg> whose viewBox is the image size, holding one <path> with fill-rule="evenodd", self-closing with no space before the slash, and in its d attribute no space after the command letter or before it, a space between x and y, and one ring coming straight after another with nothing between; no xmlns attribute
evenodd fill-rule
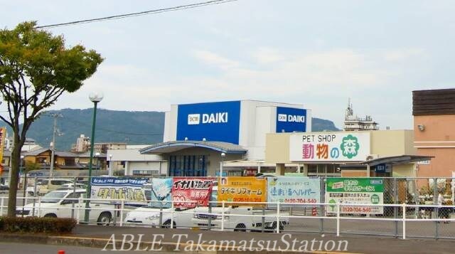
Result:
<svg viewBox="0 0 455 254"><path fill-rule="evenodd" d="M236 206L252 206L255 202L266 202L266 184L266 179L257 179L255 176L220 177L218 202L250 202L234 203ZM259 204L259 206L264 206L264 204Z"/></svg>

